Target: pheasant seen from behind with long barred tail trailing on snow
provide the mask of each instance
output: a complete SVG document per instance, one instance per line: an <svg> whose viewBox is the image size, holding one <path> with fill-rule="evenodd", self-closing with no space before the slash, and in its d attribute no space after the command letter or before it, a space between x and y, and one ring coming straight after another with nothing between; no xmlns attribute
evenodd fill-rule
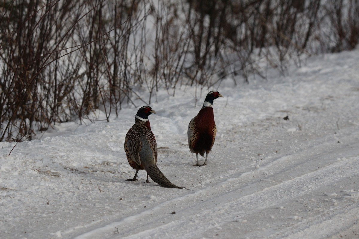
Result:
<svg viewBox="0 0 359 239"><path fill-rule="evenodd" d="M144 169L153 181L163 187L182 188L171 183L157 167L157 143L151 131L148 116L156 113L150 106L141 107L135 116L135 124L127 132L125 138L125 152L132 168L136 169L135 176L128 181L137 180L137 173Z"/></svg>

